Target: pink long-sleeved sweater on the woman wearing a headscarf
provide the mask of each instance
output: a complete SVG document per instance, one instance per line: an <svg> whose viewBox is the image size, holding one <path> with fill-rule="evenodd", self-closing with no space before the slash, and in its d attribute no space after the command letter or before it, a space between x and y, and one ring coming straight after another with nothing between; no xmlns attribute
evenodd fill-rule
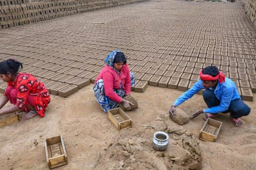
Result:
<svg viewBox="0 0 256 170"><path fill-rule="evenodd" d="M109 97L111 100L114 100L118 103L122 100L122 97L118 96L113 90L120 89L121 81L123 84L123 88L125 90L125 94L131 94L130 70L127 64L125 64L121 69L121 78L114 69L111 69L111 67L106 65L100 71L97 79L95 80L95 83L99 79L103 79L105 95Z"/></svg>

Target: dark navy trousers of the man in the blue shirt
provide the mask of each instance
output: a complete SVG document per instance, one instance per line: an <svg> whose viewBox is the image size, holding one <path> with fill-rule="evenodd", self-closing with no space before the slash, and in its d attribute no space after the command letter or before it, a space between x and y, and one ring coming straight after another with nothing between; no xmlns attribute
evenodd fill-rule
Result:
<svg viewBox="0 0 256 170"><path fill-rule="evenodd" d="M206 105L209 108L220 105L220 100L217 99L217 97L213 93L213 90L210 90L210 89L204 90L203 97ZM250 112L251 112L251 108L247 106L243 100L235 99L230 102L230 105L227 111L223 113L230 113L230 116L232 118L239 118L242 116L249 115Z"/></svg>

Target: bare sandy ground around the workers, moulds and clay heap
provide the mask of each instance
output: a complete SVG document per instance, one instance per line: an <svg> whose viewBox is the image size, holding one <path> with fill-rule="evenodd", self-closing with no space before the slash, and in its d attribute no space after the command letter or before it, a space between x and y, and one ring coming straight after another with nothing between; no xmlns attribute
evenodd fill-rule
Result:
<svg viewBox="0 0 256 170"><path fill-rule="evenodd" d="M148 87L143 94L132 92L139 102L139 109L126 112L133 120L133 128L118 132L95 101L92 87L90 84L68 98L52 96L44 118L36 116L1 128L0 169L48 169L44 139L57 135L64 138L68 165L56 169L97 169L98 163L106 159L102 151L107 150L115 139L122 137L125 131L129 131L127 135L138 133L141 124L149 123L161 114L167 115L172 102L182 94L182 91L155 87ZM217 142L198 139L204 123L202 115L183 125L198 139L202 169L256 169L255 101L246 103L252 111L243 118L246 122L243 128L234 127L228 115L216 118L223 122ZM201 95L195 95L179 106L189 115L205 107ZM152 138L153 134L147 140Z"/></svg>

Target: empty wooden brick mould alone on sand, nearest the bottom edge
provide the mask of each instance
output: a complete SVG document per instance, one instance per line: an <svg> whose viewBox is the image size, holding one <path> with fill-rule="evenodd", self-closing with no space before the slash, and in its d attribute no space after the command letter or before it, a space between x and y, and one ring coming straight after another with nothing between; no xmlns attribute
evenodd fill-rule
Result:
<svg viewBox="0 0 256 170"><path fill-rule="evenodd" d="M68 164L67 154L61 135L44 141L47 164L50 169Z"/></svg>

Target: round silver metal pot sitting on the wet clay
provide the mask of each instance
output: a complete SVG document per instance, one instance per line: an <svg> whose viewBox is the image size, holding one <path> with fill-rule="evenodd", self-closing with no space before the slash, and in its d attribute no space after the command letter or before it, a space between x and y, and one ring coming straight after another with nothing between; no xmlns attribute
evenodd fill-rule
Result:
<svg viewBox="0 0 256 170"><path fill-rule="evenodd" d="M166 150L169 144L169 135L165 132L154 133L153 147L156 150Z"/></svg>

